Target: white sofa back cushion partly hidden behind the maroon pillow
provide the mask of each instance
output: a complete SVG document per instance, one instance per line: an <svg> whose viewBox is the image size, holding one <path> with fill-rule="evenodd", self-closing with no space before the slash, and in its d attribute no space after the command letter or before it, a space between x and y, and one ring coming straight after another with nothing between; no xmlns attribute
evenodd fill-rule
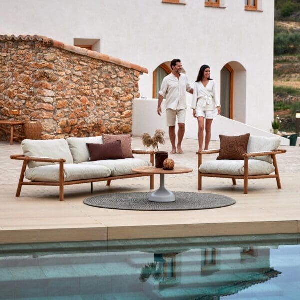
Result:
<svg viewBox="0 0 300 300"><path fill-rule="evenodd" d="M103 143L102 136L69 137L66 139L70 147L74 163L89 161L87 143Z"/></svg>

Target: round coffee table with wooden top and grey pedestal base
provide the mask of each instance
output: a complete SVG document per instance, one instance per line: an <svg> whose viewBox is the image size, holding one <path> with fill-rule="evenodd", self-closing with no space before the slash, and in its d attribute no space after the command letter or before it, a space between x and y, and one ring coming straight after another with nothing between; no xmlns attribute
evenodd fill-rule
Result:
<svg viewBox="0 0 300 300"><path fill-rule="evenodd" d="M165 170L162 168L157 168L155 166L142 166L142 167L133 168L132 172L146 173L146 174L159 174L160 186L157 190L151 193L149 201L173 202L175 201L175 195L164 187L164 175L190 173L192 172L192 169L188 167L174 167L172 170Z"/></svg>

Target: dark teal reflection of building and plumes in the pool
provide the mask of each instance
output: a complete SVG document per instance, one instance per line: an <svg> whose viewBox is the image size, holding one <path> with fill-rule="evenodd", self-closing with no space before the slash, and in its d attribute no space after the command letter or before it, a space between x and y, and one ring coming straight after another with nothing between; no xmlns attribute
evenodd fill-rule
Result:
<svg viewBox="0 0 300 300"><path fill-rule="evenodd" d="M189 259L188 259L189 258ZM189 267L190 266L190 267ZM154 252L154 261L141 269L140 282L150 276L160 296L219 299L281 274L270 267L269 247L190 249L181 253ZM169 290L164 293L164 290ZM178 289L180 292L178 294Z"/></svg>

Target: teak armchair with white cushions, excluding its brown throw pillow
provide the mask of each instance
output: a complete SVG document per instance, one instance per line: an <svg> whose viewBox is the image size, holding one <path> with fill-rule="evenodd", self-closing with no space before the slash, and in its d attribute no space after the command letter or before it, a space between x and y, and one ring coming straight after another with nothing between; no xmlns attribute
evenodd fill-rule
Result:
<svg viewBox="0 0 300 300"><path fill-rule="evenodd" d="M202 162L203 154L219 153L220 149L197 152L198 190L202 189L202 177L231 178L233 185L236 185L236 179L243 179L244 194L248 193L249 179L276 178L277 187L281 188L276 154L285 153L286 150L278 150L279 145L278 137L251 135L243 160L223 159Z"/></svg>

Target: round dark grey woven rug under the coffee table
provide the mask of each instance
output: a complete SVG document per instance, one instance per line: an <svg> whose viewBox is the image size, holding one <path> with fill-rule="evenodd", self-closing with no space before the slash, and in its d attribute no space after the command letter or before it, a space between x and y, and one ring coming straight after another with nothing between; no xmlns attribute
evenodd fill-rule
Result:
<svg viewBox="0 0 300 300"><path fill-rule="evenodd" d="M175 202L150 202L151 192L130 192L104 194L87 198L84 204L110 209L124 210L196 210L210 209L233 205L232 198L209 193L174 192Z"/></svg>

